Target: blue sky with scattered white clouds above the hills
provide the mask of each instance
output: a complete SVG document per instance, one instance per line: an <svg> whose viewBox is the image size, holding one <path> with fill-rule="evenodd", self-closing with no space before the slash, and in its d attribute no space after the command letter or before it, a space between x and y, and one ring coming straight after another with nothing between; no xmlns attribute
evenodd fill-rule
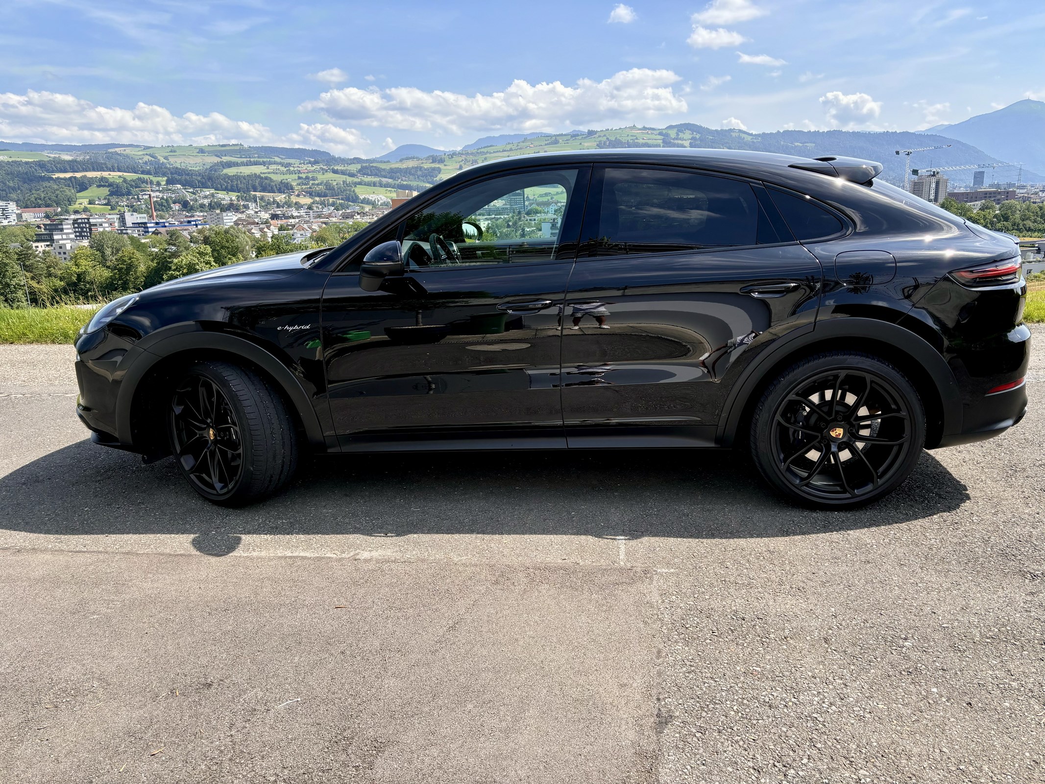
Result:
<svg viewBox="0 0 1045 784"><path fill-rule="evenodd" d="M1045 99L1045 3L7 0L0 139L375 155L690 121L916 130Z"/></svg>

